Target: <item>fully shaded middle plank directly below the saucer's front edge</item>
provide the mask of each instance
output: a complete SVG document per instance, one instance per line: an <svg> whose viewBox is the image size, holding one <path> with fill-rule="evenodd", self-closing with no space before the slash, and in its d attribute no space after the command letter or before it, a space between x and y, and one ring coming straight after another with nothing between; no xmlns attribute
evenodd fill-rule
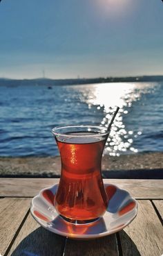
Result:
<svg viewBox="0 0 163 256"><path fill-rule="evenodd" d="M68 239L64 256L118 256L116 235L93 240Z"/></svg>

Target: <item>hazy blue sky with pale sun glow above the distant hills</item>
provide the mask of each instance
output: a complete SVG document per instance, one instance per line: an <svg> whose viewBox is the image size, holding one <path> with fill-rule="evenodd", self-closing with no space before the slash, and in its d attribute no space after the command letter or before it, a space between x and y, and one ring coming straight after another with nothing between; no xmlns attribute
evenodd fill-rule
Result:
<svg viewBox="0 0 163 256"><path fill-rule="evenodd" d="M163 75L161 0L1 0L0 77Z"/></svg>

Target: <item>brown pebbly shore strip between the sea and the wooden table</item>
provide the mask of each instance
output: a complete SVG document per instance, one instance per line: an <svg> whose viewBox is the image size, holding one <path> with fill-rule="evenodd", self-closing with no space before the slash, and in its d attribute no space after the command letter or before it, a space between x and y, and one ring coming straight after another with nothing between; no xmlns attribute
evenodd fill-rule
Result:
<svg viewBox="0 0 163 256"><path fill-rule="evenodd" d="M105 155L102 173L104 178L163 178L162 160L163 153ZM0 177L57 177L60 170L60 157L0 157Z"/></svg>

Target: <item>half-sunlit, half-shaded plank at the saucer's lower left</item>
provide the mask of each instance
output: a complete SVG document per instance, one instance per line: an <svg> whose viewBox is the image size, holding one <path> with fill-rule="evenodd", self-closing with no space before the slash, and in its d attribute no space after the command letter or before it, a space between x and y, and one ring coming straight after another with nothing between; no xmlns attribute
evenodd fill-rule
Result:
<svg viewBox="0 0 163 256"><path fill-rule="evenodd" d="M29 214L7 255L61 256L65 241L65 237L41 228Z"/></svg>

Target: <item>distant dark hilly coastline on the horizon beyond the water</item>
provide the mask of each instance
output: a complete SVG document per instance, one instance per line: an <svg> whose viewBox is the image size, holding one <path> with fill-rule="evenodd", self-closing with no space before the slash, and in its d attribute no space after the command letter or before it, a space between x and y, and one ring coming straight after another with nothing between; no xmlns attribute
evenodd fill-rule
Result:
<svg viewBox="0 0 163 256"><path fill-rule="evenodd" d="M119 82L160 82L163 76L127 76L127 77L108 77L108 78L78 78L78 79L8 79L0 78L0 86L18 85L84 85L90 83L119 83Z"/></svg>

